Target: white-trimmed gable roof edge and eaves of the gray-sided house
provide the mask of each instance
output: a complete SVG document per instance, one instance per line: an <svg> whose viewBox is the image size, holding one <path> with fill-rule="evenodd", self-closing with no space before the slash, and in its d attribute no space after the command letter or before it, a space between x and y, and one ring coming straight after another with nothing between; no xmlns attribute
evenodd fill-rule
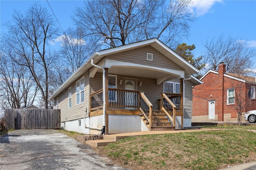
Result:
<svg viewBox="0 0 256 170"><path fill-rule="evenodd" d="M198 69L194 67L191 63L186 61L186 59L182 58L180 55L178 55L175 51L170 49L167 45L162 43L160 40L157 38L152 38L149 40L144 40L141 42L135 42L135 43L130 43L127 45L122 45L119 47L114 47L110 49L104 49L101 51L98 51L94 53L81 67L79 67L59 88L58 90L53 93L53 95L49 98L49 100L54 99L58 94L60 94L64 89L68 88L72 82L75 79L78 79L80 76L83 75L85 71L90 69L92 67L91 60L94 59L94 63L100 62L106 55L111 55L115 53L120 53L124 51L128 51L131 49L136 49L139 47L145 47L150 45L160 53L162 53L165 57L179 65L182 69L184 69L186 75L190 75L193 73L197 73Z"/></svg>

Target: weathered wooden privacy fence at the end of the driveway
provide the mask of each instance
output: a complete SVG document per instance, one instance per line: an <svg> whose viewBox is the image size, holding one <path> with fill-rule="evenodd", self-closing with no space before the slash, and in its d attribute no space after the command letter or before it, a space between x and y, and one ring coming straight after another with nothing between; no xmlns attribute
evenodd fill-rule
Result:
<svg viewBox="0 0 256 170"><path fill-rule="evenodd" d="M6 129L59 129L60 109L5 109Z"/></svg>

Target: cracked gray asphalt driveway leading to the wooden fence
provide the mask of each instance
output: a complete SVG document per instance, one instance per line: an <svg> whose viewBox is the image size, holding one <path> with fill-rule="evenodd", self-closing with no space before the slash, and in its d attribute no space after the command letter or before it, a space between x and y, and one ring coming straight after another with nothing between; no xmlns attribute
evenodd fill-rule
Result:
<svg viewBox="0 0 256 170"><path fill-rule="evenodd" d="M123 170L58 130L15 130L0 137L0 169Z"/></svg>

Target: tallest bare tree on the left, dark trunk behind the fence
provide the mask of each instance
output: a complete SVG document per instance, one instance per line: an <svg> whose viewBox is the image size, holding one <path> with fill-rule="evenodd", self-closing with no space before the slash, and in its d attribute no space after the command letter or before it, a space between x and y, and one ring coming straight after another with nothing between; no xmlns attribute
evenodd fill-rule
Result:
<svg viewBox="0 0 256 170"><path fill-rule="evenodd" d="M55 20L38 3L32 4L24 15L14 10L12 18L14 24L5 24L9 31L8 36L5 36L5 44L16 54L16 57L12 57L13 61L29 69L47 109L48 68L52 63L47 44L58 33Z"/></svg>

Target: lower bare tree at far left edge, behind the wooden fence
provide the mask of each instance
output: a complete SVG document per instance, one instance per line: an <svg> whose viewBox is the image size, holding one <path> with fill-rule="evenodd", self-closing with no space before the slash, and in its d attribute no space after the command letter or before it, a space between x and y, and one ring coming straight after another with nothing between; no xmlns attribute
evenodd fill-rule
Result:
<svg viewBox="0 0 256 170"><path fill-rule="evenodd" d="M28 69L15 63L5 53L0 54L0 107L23 108L32 105L38 87Z"/></svg>

